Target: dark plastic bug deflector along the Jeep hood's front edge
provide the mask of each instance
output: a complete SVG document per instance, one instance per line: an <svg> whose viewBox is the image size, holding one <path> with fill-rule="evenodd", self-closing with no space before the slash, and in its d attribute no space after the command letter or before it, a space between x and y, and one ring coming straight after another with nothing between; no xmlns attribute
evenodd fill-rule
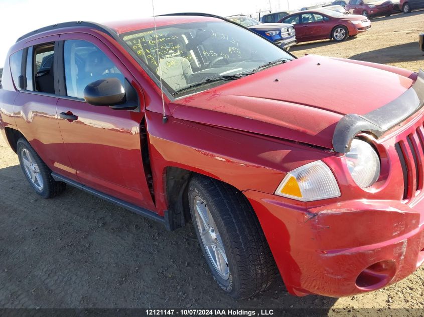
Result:
<svg viewBox="0 0 424 317"><path fill-rule="evenodd" d="M350 143L361 132L372 133L376 138L409 118L424 106L424 71L411 88L387 105L360 116L344 116L336 126L333 135L333 148L338 153L347 153Z"/></svg>

